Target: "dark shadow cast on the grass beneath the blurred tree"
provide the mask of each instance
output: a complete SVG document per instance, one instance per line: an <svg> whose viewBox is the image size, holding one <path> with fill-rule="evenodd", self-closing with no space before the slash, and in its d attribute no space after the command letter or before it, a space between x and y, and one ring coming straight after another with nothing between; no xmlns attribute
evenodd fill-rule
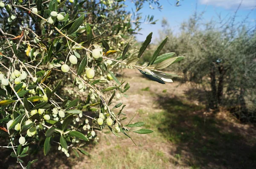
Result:
<svg viewBox="0 0 256 169"><path fill-rule="evenodd" d="M157 102L164 110L158 130L177 146L170 153L178 158L179 165L192 168L256 168L255 135L251 135L254 139L244 135L250 133L250 129L239 129L213 113L205 113L203 107L189 104L176 96L158 96Z"/></svg>

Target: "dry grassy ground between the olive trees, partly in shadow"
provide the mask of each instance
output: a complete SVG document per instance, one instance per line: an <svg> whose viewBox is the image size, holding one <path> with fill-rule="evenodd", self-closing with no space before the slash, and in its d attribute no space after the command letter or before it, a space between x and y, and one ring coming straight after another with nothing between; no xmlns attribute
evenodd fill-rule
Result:
<svg viewBox="0 0 256 169"><path fill-rule="evenodd" d="M221 110L207 112L200 92L189 84L161 85L135 70L124 70L131 88L119 101L128 119L145 121L148 135L118 138L105 129L88 146L90 156L65 158L58 150L36 155L35 168L63 169L253 169L256 168L256 128L241 124ZM196 92L195 92L196 91ZM128 121L128 120L127 120ZM31 156L32 157L32 156ZM64 158L63 158L64 157ZM7 166L7 165L6 165ZM15 168L10 165L9 168ZM0 167L1 168L1 167Z"/></svg>

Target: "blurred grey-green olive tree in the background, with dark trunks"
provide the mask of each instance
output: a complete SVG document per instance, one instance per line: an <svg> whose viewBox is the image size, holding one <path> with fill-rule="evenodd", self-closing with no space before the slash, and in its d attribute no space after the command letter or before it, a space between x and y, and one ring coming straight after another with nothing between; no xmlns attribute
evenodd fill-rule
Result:
<svg viewBox="0 0 256 169"><path fill-rule="evenodd" d="M195 13L181 25L178 36L164 20L162 36L172 40L162 52L186 56L177 69L185 80L205 90L209 108L218 110L223 105L241 120L255 120L255 27L245 25L245 20L235 26L235 16L224 18L222 25L214 20L202 23L202 17Z"/></svg>

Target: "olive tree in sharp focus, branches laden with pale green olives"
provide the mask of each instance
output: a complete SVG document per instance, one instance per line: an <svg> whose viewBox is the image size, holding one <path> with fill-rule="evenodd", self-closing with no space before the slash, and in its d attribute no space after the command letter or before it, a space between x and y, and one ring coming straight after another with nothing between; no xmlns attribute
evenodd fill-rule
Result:
<svg viewBox="0 0 256 169"><path fill-rule="evenodd" d="M130 86L116 72L128 65L165 84L171 75L160 70L183 57L160 55L166 38L147 65L136 65L152 38L131 49L144 2L160 8L155 0L135 1L134 14L123 0L0 2L0 147L12 149L22 168L36 161L24 165L22 158L41 140L44 155L57 146L69 157L87 154L85 143L104 127L117 137L153 132L131 123L136 113L124 121L118 99Z"/></svg>

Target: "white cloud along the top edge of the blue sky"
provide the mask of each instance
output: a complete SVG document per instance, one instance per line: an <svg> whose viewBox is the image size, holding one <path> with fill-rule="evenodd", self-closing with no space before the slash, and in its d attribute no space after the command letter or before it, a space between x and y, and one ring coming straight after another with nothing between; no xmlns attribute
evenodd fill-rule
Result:
<svg viewBox="0 0 256 169"><path fill-rule="evenodd" d="M220 6L224 8L237 8L241 0L200 0L201 4ZM241 8L251 9L256 6L256 0L243 0Z"/></svg>

